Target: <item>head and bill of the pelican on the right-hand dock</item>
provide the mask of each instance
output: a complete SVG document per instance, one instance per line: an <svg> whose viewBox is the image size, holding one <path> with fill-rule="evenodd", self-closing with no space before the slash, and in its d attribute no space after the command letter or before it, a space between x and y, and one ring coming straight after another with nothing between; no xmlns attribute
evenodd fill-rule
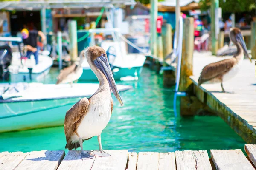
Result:
<svg viewBox="0 0 256 170"><path fill-rule="evenodd" d="M240 44L241 47L243 48L244 50L244 54L245 56L250 59L249 57L249 54L248 54L248 50L247 50L247 47L245 45L245 42L244 42L244 37L240 31L239 28L231 28L230 29L230 40L232 40L232 42L234 44ZM252 62L252 60L250 59L250 62Z"/></svg>

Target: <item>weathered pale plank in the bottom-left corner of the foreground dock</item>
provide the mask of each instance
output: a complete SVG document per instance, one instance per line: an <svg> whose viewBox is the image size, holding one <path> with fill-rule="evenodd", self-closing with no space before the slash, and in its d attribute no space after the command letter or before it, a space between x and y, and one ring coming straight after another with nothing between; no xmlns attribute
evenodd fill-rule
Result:
<svg viewBox="0 0 256 170"><path fill-rule="evenodd" d="M0 170L14 170L26 155L27 153L22 152L0 153Z"/></svg>

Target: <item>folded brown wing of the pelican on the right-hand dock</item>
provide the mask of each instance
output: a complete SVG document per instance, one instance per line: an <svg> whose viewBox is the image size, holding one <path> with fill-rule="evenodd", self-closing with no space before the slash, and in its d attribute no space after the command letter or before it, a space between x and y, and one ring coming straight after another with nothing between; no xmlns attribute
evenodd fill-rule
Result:
<svg viewBox="0 0 256 170"><path fill-rule="evenodd" d="M204 82L207 82L211 79L219 77L224 73L227 73L235 64L236 64L236 59L233 57L230 59L224 59L222 61L218 61L218 62L211 63L209 65L206 65L203 68L201 75L198 79L198 86L200 86Z"/></svg>

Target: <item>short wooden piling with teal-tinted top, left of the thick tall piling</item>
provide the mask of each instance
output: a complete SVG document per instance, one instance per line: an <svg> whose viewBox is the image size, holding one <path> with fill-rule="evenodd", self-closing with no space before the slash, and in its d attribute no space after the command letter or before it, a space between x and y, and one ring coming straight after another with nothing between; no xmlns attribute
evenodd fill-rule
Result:
<svg viewBox="0 0 256 170"><path fill-rule="evenodd" d="M172 52L172 25L165 23L162 27L163 58Z"/></svg>

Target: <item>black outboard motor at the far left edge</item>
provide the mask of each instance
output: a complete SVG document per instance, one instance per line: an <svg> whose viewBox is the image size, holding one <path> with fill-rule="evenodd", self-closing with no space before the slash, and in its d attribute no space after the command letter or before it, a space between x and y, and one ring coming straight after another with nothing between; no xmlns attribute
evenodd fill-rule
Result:
<svg viewBox="0 0 256 170"><path fill-rule="evenodd" d="M0 46L0 80L9 80L8 67L12 63L12 49L9 45Z"/></svg>

